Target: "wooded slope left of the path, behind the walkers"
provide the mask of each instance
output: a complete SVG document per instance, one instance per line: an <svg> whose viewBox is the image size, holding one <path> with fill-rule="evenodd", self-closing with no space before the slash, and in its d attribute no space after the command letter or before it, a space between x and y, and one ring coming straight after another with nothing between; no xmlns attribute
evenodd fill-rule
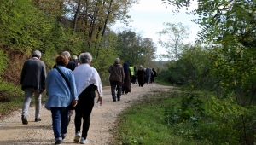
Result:
<svg viewBox="0 0 256 145"><path fill-rule="evenodd" d="M128 9L137 0L19 0L3 1L0 12L1 74L3 81L20 83L20 67L33 50L43 53L48 70L55 56L90 52L93 67L107 78L116 57L133 66L152 64L156 44L131 30L113 32L119 20L128 25ZM105 79L104 79L105 80Z"/></svg>

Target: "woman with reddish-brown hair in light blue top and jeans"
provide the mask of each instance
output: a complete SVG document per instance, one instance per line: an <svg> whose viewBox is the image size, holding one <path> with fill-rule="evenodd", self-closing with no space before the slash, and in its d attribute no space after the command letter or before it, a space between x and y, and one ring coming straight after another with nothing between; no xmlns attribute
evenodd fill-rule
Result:
<svg viewBox="0 0 256 145"><path fill-rule="evenodd" d="M56 57L56 68L49 71L45 80L47 100L44 107L51 111L52 127L55 136L55 144L61 144L67 136L69 105L77 105L77 87L72 70L66 68L68 58L66 55ZM61 76L57 68L67 78Z"/></svg>

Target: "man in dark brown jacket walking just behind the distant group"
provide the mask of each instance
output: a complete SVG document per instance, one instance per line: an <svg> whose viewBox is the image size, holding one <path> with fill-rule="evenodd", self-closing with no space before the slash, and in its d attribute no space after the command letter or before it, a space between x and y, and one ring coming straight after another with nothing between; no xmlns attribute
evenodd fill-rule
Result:
<svg viewBox="0 0 256 145"><path fill-rule="evenodd" d="M124 68L119 63L120 59L116 58L114 64L108 68L108 72L110 73L109 81L111 85L111 94L113 102L116 102L116 97L118 98L118 101L120 101L122 84L124 83L125 79ZM118 90L117 96L115 96L115 89Z"/></svg>

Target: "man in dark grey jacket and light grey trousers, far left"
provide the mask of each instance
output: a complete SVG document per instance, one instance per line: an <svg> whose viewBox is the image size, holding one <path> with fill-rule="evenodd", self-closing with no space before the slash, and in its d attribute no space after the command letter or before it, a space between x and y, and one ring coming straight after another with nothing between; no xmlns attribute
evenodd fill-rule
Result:
<svg viewBox="0 0 256 145"><path fill-rule="evenodd" d="M36 103L35 122L41 121L41 94L45 91L46 69L44 61L40 61L40 58L41 52L38 50L34 51L32 59L26 60L22 68L20 84L22 86L21 90L25 91L21 114L23 125L28 124L26 116L33 94Z"/></svg>

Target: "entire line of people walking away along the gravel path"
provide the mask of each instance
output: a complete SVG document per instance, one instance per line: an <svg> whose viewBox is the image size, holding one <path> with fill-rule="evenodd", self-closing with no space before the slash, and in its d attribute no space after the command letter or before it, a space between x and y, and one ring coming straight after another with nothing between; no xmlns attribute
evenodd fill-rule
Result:
<svg viewBox="0 0 256 145"><path fill-rule="evenodd" d="M26 60L22 67L20 84L25 91L25 99L22 106L22 124L27 125L27 113L35 96L35 122L41 121L41 96L46 91L47 100L44 107L51 111L52 127L55 136L55 144L61 144L67 136L67 126L75 111L74 125L75 136L73 141L81 144L89 142L87 134L90 127L90 113L95 104L96 92L97 102L102 105L102 81L99 73L90 66L92 56L90 53L81 53L78 57L71 56L68 51L55 58L55 66L46 75L44 61L41 61L41 52L36 50L32 53L32 58ZM113 102L120 101L122 94L131 92L131 84L143 84L154 82L156 73L154 68L144 69L128 65L127 62L120 64L120 59L116 58L113 64L108 67L110 73L109 81ZM117 93L115 91L117 90ZM83 119L83 125L82 125ZM82 127L82 130L81 130ZM82 131L82 132L80 132Z"/></svg>

